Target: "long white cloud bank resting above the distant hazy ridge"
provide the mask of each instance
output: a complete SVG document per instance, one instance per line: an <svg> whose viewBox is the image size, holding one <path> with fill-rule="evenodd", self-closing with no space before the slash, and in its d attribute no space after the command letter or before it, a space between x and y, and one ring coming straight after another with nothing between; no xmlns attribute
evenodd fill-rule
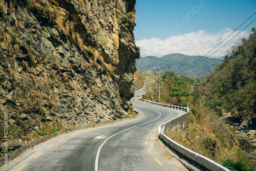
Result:
<svg viewBox="0 0 256 171"><path fill-rule="evenodd" d="M222 40L224 40L229 34L233 31L231 29L223 29L217 34L210 34L206 31L200 30L198 32L192 32L184 35L174 35L165 40L160 38L151 38L151 39L142 39L136 41L136 45L141 48L141 56L155 55L163 56L170 53L182 53L185 55L205 55L210 50L215 48ZM206 56L211 55L221 46L223 46L228 40L233 36L238 34L240 31L235 31L231 34L222 44L217 48L212 50ZM239 38L247 37L249 31L242 31L232 40L230 40L224 47L218 50L216 53L212 54L214 56L224 56L226 51L229 50L232 46L236 45Z"/></svg>

